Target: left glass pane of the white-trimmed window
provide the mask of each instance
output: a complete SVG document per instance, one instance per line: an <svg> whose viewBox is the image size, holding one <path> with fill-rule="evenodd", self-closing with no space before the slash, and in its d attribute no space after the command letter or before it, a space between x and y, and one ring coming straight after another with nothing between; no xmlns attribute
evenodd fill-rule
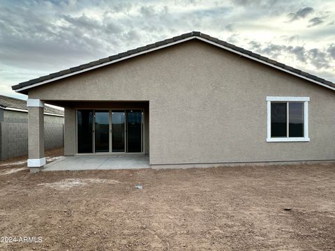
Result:
<svg viewBox="0 0 335 251"><path fill-rule="evenodd" d="M271 137L287 137L287 103L271 102Z"/></svg>

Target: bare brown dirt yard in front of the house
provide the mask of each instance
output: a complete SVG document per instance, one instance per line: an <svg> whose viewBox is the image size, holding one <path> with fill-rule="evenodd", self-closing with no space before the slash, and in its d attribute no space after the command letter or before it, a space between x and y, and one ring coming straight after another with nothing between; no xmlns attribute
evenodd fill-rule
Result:
<svg viewBox="0 0 335 251"><path fill-rule="evenodd" d="M0 162L0 236L41 242L0 250L335 250L334 164L29 174L22 160Z"/></svg>

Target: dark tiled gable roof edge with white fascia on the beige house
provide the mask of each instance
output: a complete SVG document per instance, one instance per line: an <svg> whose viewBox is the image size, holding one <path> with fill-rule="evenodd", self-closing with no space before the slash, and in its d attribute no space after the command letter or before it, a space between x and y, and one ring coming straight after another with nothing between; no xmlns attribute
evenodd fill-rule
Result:
<svg viewBox="0 0 335 251"><path fill-rule="evenodd" d="M41 85L41 84L47 84L48 82L53 82L58 79L62 79L64 77L70 77L72 75L76 75L79 73L84 73L87 70L93 70L95 68L99 68L102 66L107 66L111 63L116 63L118 61L122 61L125 59L129 59L133 56L139 56L141 54L145 54L147 52L152 52L154 50L159 50L164 47L168 47L171 45L175 45L177 43L182 43L187 40L191 39L198 39L202 40L204 42L210 43L211 45L216 45L218 47L221 47L225 50L228 50L230 52L234 52L236 54L239 54L240 56L245 56L248 59L252 59L254 61L258 61L260 63L265 63L268 66L277 68L278 70L283 70L286 73L290 73L292 75L296 75L297 77L301 77L303 79L306 79L310 82L313 82L315 84L320 84L322 86L325 86L329 89L332 89L335 91L335 84L333 82L327 81L326 79L322 79L320 77L317 77L315 75L311 75L309 73L305 73L302 70L298 70L296 68L292 68L291 66L286 66L283 63L279 63L277 61L274 61L272 59L269 59L265 56L261 56L260 54L253 53L249 50L244 50L241 47L237 47L235 45L232 45L230 43L227 43L223 40L219 40L218 38L213 38L209 35L206 35L204 33L200 33L199 31L193 31L190 33L182 34L181 36L176 36L174 38L165 39L162 41L159 41L157 43L153 43L151 45L146 45L143 47L138 47L134 50L128 50L127 52L122 52L113 56L108 56L104 59L99 59L97 61L92 61L90 63L85 63L80 66L76 66L73 68L69 68L67 70L61 70L57 73L52 73L50 75L45 75L43 77L38 77L36 79L31 79L27 82L22 82L20 84L12 86L12 89L17 92L24 93L24 90L33 88L35 86Z"/></svg>

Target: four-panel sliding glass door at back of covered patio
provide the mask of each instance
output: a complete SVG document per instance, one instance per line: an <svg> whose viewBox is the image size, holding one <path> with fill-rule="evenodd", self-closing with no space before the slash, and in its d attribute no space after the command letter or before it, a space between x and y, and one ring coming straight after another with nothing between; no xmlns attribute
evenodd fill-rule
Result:
<svg viewBox="0 0 335 251"><path fill-rule="evenodd" d="M141 109L78 109L77 153L142 153Z"/></svg>

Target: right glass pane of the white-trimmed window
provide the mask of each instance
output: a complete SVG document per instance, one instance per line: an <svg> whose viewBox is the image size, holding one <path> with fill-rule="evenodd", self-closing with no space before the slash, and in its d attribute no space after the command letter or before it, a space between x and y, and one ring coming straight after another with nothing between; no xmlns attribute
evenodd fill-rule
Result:
<svg viewBox="0 0 335 251"><path fill-rule="evenodd" d="M304 103L289 102L288 114L288 136L304 137Z"/></svg>

